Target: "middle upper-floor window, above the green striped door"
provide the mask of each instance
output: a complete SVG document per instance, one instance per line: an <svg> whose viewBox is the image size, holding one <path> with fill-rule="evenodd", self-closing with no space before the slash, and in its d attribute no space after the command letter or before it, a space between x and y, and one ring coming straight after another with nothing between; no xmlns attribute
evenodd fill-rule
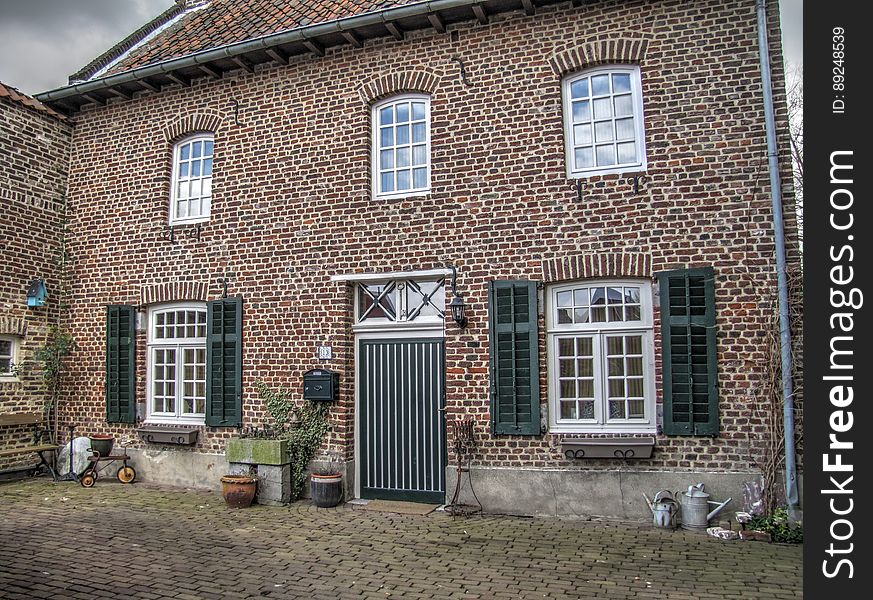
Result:
<svg viewBox="0 0 873 600"><path fill-rule="evenodd" d="M430 190L430 98L395 96L373 107L373 195Z"/></svg>

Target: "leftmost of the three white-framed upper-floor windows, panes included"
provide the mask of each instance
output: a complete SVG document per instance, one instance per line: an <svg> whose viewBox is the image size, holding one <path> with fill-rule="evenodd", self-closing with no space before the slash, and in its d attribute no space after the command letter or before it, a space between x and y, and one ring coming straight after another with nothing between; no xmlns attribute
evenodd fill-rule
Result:
<svg viewBox="0 0 873 600"><path fill-rule="evenodd" d="M209 220L212 205L212 134L197 134L173 147L170 223Z"/></svg>

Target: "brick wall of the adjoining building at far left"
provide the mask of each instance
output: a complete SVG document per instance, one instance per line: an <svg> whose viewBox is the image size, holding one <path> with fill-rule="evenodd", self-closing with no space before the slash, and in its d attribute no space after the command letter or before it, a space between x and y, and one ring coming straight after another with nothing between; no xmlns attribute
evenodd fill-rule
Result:
<svg viewBox="0 0 873 600"><path fill-rule="evenodd" d="M0 412L43 409L45 393L33 352L58 318L57 258L72 128L45 112L0 98L0 335L20 341L17 380L0 379ZM27 289L44 278L49 303L27 307ZM0 427L0 448L27 445L30 427ZM32 465L31 456L0 459L0 470Z"/></svg>

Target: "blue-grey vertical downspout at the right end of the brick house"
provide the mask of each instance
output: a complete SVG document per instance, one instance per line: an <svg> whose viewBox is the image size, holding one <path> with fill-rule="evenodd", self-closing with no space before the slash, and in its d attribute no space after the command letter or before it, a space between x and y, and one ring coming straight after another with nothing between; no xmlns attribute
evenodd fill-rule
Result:
<svg viewBox="0 0 873 600"><path fill-rule="evenodd" d="M797 492L797 462L794 446L794 381L791 362L791 321L788 311L788 270L785 259L785 233L782 216L782 180L776 147L776 116L770 77L770 45L767 40L767 7L756 0L758 11L758 52L761 56L761 83L764 87L764 120L767 127L767 156L770 163L770 195L773 200L773 231L776 234L776 273L779 287L779 339L782 353L783 432L785 435L785 496L788 510L796 515L800 504Z"/></svg>

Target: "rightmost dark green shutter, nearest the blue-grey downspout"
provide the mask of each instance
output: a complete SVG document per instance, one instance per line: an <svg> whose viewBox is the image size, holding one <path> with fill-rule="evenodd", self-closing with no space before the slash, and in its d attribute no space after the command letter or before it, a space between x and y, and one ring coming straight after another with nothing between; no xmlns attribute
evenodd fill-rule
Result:
<svg viewBox="0 0 873 600"><path fill-rule="evenodd" d="M664 433L718 435L715 271L658 274L664 357Z"/></svg>

